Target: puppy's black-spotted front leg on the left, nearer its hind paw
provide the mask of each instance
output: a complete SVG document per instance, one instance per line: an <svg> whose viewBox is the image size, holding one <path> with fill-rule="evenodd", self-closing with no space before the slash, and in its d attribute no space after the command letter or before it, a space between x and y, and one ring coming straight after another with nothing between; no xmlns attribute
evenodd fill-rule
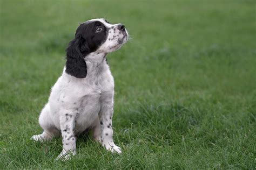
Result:
<svg viewBox="0 0 256 170"><path fill-rule="evenodd" d="M75 137L75 111L66 112L60 116L60 129L62 131L63 150L57 159L69 159L70 154L76 154L76 137Z"/></svg>

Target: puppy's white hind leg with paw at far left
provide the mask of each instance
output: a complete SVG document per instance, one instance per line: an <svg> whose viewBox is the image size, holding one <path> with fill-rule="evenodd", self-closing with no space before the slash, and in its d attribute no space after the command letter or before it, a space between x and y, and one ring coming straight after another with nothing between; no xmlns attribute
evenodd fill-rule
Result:
<svg viewBox="0 0 256 170"><path fill-rule="evenodd" d="M50 117L50 105L47 103L39 116L39 124L43 128L42 134L36 134L31 137L32 140L45 141L51 140L54 136L59 136L60 132L55 128Z"/></svg>

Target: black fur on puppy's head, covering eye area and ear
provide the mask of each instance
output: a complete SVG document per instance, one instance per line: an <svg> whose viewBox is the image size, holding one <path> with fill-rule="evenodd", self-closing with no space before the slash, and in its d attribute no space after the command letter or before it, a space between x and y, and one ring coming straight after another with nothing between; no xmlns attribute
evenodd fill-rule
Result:
<svg viewBox="0 0 256 170"><path fill-rule="evenodd" d="M108 29L99 21L89 21L80 24L76 30L75 38L69 42L66 49L65 72L77 78L87 75L84 58L95 52L107 39Z"/></svg>

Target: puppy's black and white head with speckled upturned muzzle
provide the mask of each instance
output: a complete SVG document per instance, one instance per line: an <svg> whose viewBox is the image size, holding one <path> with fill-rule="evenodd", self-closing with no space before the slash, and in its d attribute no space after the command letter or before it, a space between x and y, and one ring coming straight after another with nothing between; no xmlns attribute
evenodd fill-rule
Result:
<svg viewBox="0 0 256 170"><path fill-rule="evenodd" d="M128 33L123 24L110 24L105 19L92 19L80 24L75 39L66 49L65 72L77 78L86 77L86 55L116 51L127 39Z"/></svg>

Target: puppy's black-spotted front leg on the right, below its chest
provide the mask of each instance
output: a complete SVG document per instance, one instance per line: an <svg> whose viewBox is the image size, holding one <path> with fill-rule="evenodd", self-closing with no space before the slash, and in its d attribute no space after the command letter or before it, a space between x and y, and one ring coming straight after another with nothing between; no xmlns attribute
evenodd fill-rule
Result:
<svg viewBox="0 0 256 170"><path fill-rule="evenodd" d="M112 153L121 153L120 147L113 142L112 116L113 116L113 93L102 94L100 98L102 106L99 112L100 143Z"/></svg>

